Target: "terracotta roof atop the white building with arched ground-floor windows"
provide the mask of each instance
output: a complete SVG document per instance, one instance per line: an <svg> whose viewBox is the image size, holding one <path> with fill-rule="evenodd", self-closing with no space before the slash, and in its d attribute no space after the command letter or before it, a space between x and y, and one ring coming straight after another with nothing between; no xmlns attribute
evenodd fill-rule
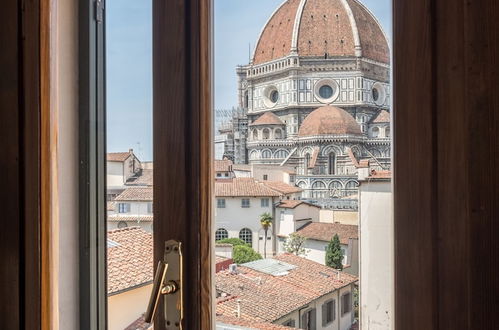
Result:
<svg viewBox="0 0 499 330"><path fill-rule="evenodd" d="M215 181L216 197L278 197L281 194L253 178Z"/></svg>

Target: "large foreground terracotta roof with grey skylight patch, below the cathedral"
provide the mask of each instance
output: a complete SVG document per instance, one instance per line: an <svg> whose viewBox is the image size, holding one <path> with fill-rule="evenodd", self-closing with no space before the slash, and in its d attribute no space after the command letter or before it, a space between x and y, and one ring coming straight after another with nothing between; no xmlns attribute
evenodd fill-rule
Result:
<svg viewBox="0 0 499 330"><path fill-rule="evenodd" d="M240 299L241 319L274 322L325 294L357 281L355 276L342 272L338 279L336 270L293 254L273 259L295 267L285 275L273 276L243 264L238 267L237 274L221 271L215 275L217 292L226 294L217 301L217 318L234 316L237 300ZM265 263L268 260L259 261Z"/></svg>

